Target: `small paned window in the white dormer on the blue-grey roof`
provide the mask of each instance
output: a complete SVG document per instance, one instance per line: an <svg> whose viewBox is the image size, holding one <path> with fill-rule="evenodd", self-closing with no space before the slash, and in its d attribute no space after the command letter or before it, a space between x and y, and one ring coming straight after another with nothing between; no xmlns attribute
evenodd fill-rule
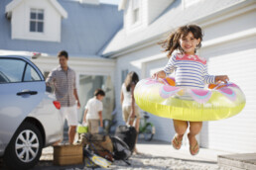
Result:
<svg viewBox="0 0 256 170"><path fill-rule="evenodd" d="M44 10L31 9L30 32L44 33Z"/></svg>

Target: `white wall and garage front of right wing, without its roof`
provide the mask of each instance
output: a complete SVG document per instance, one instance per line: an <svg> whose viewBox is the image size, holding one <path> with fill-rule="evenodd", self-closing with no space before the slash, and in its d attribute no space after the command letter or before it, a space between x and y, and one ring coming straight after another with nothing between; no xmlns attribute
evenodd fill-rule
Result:
<svg viewBox="0 0 256 170"><path fill-rule="evenodd" d="M201 147L230 152L256 151L256 10L255 5L240 7L197 24L202 26L204 38L199 54L207 59L210 74L227 74L246 96L244 110L235 117L204 122L198 140ZM140 78L165 66L167 59L160 47L152 44L117 57L116 61L116 103L120 107L121 71L137 71ZM175 134L172 120L150 115L156 126L156 139L170 141ZM119 117L120 120L121 114ZM186 141L186 140L185 140ZM187 141L188 142L188 141Z"/></svg>

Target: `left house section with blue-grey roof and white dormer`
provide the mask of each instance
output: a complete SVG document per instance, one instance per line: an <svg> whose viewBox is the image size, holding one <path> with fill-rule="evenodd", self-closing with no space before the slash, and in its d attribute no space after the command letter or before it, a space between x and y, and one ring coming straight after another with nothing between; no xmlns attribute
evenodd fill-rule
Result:
<svg viewBox="0 0 256 170"><path fill-rule="evenodd" d="M58 52L66 50L76 72L79 116L94 90L103 88L103 115L110 119L115 59L98 52L123 25L117 6L98 0L5 0L0 1L0 16L0 52L42 53L33 61L47 76L59 64Z"/></svg>

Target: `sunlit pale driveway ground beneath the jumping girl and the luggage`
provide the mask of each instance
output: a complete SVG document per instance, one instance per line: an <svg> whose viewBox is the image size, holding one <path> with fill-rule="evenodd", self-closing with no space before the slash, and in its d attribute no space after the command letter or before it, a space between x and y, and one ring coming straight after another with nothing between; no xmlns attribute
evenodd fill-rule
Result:
<svg viewBox="0 0 256 170"><path fill-rule="evenodd" d="M218 155L227 155L230 153L200 148L199 153L195 156L190 154L189 148L182 147L180 150L175 150L172 145L165 141L152 140L144 141L139 139L137 149L141 154L133 155L129 158L131 166L127 166L122 161L114 161L109 169L190 169L190 170L231 170L232 168L222 168L217 164ZM0 163L0 169L4 167ZM83 170L87 169L83 164L69 166L53 165L53 147L43 149L43 154L40 162L33 170ZM102 169L102 168L97 168Z"/></svg>

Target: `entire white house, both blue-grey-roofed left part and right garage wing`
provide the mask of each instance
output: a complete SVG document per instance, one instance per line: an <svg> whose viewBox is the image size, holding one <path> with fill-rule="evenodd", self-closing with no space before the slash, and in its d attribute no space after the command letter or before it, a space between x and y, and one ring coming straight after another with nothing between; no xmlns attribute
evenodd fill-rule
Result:
<svg viewBox="0 0 256 170"><path fill-rule="evenodd" d="M208 72L227 74L247 100L237 116L204 122L200 146L256 152L256 1L121 0L118 8L121 12L98 0L0 1L0 52L42 52L34 62L47 74L58 64L57 52L67 50L82 105L94 88L110 89L108 113L115 95L122 124L119 99L126 74L136 71L145 78L163 68L168 58L157 42L179 26L198 24L204 31L199 54L207 58ZM171 141L172 120L150 117L154 137Z"/></svg>

